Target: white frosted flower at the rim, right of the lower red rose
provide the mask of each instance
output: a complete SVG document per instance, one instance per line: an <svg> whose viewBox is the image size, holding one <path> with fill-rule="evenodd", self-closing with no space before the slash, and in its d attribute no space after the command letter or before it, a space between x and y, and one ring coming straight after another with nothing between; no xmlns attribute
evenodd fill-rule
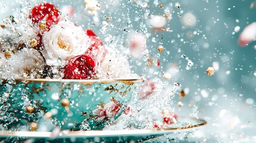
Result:
<svg viewBox="0 0 256 143"><path fill-rule="evenodd" d="M108 50L104 60L98 66L97 76L100 79L134 79L127 57L118 50Z"/></svg>

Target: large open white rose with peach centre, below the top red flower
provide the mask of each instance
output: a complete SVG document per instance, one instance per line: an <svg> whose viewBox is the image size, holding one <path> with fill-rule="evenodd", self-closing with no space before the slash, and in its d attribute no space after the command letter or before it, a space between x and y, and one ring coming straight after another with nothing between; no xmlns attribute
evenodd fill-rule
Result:
<svg viewBox="0 0 256 143"><path fill-rule="evenodd" d="M90 46L89 38L82 27L65 20L59 21L49 32L45 32L42 42L44 43L42 53L46 59L60 58L63 61L84 54Z"/></svg>

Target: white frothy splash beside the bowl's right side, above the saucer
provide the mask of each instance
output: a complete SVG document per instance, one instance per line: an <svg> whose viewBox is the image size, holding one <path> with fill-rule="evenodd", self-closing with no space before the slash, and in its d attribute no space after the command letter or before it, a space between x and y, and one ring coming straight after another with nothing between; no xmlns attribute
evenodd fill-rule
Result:
<svg viewBox="0 0 256 143"><path fill-rule="evenodd" d="M164 123L164 114L173 114L174 109L171 108L171 100L175 93L181 88L180 83L174 83L173 86L160 79L153 79L150 83L155 83L155 88L147 100L141 100L140 92L143 86L137 87L134 91L134 97L129 102L128 107L113 124L107 124L104 129L152 129L168 128Z"/></svg>

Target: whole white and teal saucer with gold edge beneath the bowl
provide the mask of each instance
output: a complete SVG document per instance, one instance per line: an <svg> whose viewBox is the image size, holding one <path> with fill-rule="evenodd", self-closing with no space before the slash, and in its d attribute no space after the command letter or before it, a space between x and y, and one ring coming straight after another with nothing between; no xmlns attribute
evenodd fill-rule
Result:
<svg viewBox="0 0 256 143"><path fill-rule="evenodd" d="M136 140L146 141L150 138L155 138L167 134L177 134L181 132L192 132L192 129L206 125L206 121L203 119L195 119L188 117L178 117L178 123L168 129L135 129L135 130L87 130L87 131L70 131L62 130L56 133L54 132L30 132L30 131L10 131L1 130L0 138L21 138L21 139L34 139L45 141L60 141L67 139L71 142L84 142L84 141L110 141L118 139L119 141ZM1 140L2 140L1 139ZM110 140L109 140L110 139ZM54 141L54 142L55 142ZM135 141L135 142L136 142Z"/></svg>

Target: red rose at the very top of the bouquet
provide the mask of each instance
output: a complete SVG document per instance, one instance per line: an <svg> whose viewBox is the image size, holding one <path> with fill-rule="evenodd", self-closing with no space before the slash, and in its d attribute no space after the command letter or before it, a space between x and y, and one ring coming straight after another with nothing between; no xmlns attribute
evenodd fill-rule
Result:
<svg viewBox="0 0 256 143"><path fill-rule="evenodd" d="M33 23L38 23L45 19L47 26L49 27L57 21L58 15L58 10L53 4L45 3L33 7L30 18L32 18Z"/></svg>

